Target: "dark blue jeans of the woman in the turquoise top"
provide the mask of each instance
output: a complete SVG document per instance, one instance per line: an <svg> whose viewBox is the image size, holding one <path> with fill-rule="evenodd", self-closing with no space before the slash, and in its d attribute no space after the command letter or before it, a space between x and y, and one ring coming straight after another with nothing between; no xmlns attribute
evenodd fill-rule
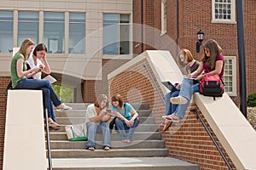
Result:
<svg viewBox="0 0 256 170"><path fill-rule="evenodd" d="M137 117L131 127L127 127L125 121L120 120L118 117L115 119L115 126L118 128L118 131L121 135L122 140L129 139L132 140L133 133L138 126L140 119ZM128 130L126 135L125 131Z"/></svg>

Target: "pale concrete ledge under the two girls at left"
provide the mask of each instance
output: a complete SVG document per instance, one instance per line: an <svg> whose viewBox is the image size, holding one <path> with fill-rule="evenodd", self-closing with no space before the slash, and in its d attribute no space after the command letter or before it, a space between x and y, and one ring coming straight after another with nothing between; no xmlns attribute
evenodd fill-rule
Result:
<svg viewBox="0 0 256 170"><path fill-rule="evenodd" d="M41 90L9 90L3 170L47 169Z"/></svg>

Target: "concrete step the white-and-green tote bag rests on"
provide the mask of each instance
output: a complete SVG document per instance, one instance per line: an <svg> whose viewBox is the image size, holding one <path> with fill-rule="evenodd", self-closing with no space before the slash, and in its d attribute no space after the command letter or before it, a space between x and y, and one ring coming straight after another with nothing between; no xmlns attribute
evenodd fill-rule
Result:
<svg viewBox="0 0 256 170"><path fill-rule="evenodd" d="M66 150L66 149L81 149L85 148L86 141L60 141L51 140L50 148L52 150ZM102 141L96 141L96 149L103 148ZM164 140L133 140L130 144L126 144L121 141L111 142L113 149L154 149L165 148Z"/></svg>

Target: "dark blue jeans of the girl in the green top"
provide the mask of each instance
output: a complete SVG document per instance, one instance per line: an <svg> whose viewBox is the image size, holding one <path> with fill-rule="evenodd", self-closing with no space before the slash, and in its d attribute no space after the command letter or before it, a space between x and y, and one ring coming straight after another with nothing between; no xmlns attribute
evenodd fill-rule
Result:
<svg viewBox="0 0 256 170"><path fill-rule="evenodd" d="M57 94L55 94L55 91L48 80L24 78L17 83L17 86L14 89L42 90L44 109L47 109L48 117L51 117L53 121L55 121L53 105L61 105L61 100L58 98Z"/></svg>

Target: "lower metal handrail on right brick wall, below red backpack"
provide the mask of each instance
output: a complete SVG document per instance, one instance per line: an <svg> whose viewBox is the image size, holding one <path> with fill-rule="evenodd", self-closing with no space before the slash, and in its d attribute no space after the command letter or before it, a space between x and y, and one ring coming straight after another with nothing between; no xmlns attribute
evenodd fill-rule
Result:
<svg viewBox="0 0 256 170"><path fill-rule="evenodd" d="M197 111L196 109L192 109L192 110L190 110L190 111L193 111L193 112L196 114L197 118L200 119L201 124L203 125L203 127L205 127L205 129L206 129L208 135L209 135L210 138L212 139L213 144L215 144L215 146L216 146L216 148L217 148L217 150L218 150L220 156L222 156L222 158L224 159L225 164L227 165L227 167L228 167L230 170L232 170L232 167L230 166L230 162L229 162L229 161L227 160L227 158L224 156L224 153L223 153L222 150L220 149L220 147L219 147L219 145L217 144L216 140L213 138L212 133L211 133L210 130L208 129L206 123L203 121L203 119L201 118L201 116L199 115L198 111Z"/></svg>

